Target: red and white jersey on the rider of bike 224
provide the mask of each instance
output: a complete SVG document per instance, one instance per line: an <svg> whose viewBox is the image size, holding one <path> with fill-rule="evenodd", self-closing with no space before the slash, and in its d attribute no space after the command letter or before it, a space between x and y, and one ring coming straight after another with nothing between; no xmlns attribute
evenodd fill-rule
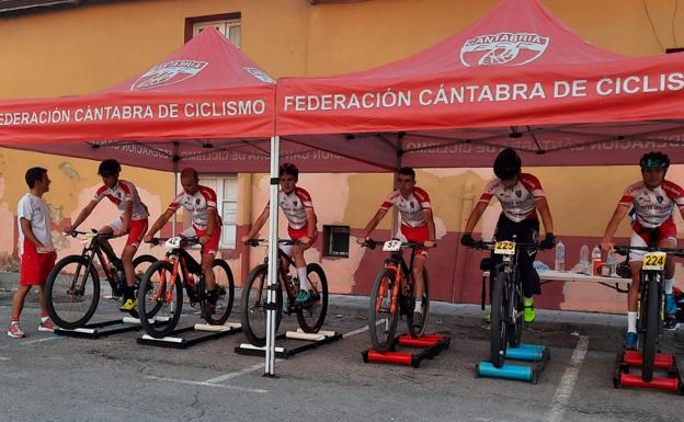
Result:
<svg viewBox="0 0 684 422"><path fill-rule="evenodd" d="M649 189L640 181L625 190L619 204L634 205L637 223L654 228L672 217L675 206L680 209L684 207L684 190L668 180L656 189Z"/></svg>

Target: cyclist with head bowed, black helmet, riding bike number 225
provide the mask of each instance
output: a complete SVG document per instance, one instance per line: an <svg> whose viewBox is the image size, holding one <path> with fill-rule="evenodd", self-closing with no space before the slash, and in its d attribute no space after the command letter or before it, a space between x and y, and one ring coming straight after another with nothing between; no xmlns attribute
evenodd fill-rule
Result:
<svg viewBox="0 0 684 422"><path fill-rule="evenodd" d="M494 231L497 240L513 240L515 235L518 242L536 242L539 233L538 212L546 231L540 246L545 249L552 248L556 240L554 220L539 180L532 174L521 172L522 160L512 148L505 148L499 152L493 168L497 179L487 185L480 201L470 213L460 242L464 246L475 244L472 230L490 201L495 196L502 208ZM523 315L525 322L534 322L536 319L533 296L542 294L539 275L534 269L536 255L536 249L529 250L521 253L517 261L523 283L523 296L525 297Z"/></svg>

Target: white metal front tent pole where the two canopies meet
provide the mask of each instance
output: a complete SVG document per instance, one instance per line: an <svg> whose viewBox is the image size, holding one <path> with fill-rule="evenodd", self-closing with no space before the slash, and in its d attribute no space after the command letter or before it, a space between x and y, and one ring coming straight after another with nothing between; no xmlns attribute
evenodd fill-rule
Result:
<svg viewBox="0 0 684 422"><path fill-rule="evenodd" d="M271 186L269 205L269 275L266 290L266 362L264 376L275 376L275 320L277 311L277 300L275 293L278 287L278 246L277 246L277 224L278 224L278 158L281 152L281 139L278 136L271 137Z"/></svg>

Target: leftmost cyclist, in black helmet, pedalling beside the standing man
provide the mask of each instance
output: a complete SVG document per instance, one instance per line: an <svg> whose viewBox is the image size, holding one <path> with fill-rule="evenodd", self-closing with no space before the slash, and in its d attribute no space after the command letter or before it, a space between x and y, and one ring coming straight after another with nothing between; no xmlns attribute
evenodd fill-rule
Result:
<svg viewBox="0 0 684 422"><path fill-rule="evenodd" d="M121 164L116 160L104 160L100 163L98 174L102 176L104 183L95 195L73 220L71 226L65 231L71 233L76 230L88 216L93 212L95 206L105 197L110 199L118 210L121 216L106 224L101 233L112 233L113 237L119 237L128 235L126 246L122 252L121 263L123 264L124 272L126 274L126 288L124 289L124 305L121 307L122 311L133 311L137 306L135 298L135 272L133 269L133 256L135 256L145 230L147 230L147 207L140 201L138 191L135 185L128 181L118 179L121 173ZM107 254L110 261L116 263L118 258L114 253L112 246L107 239L100 238L98 242L102 247L102 250Z"/></svg>

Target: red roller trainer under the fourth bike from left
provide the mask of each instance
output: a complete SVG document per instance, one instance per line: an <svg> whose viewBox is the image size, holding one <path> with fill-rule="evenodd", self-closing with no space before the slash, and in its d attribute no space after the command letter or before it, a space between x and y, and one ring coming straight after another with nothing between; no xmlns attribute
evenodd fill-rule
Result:
<svg viewBox="0 0 684 422"><path fill-rule="evenodd" d="M424 334L421 337L411 337L408 334L401 334L395 339L391 350L386 353L376 352L373 349L361 352L365 363L368 362L381 362L388 364L398 364L413 366L414 368L420 366L421 361L425 358L433 358L444 349L447 349L451 342L451 338L441 334ZM420 347L423 349L420 353L410 352L396 352L395 347L402 345L407 347Z"/></svg>

